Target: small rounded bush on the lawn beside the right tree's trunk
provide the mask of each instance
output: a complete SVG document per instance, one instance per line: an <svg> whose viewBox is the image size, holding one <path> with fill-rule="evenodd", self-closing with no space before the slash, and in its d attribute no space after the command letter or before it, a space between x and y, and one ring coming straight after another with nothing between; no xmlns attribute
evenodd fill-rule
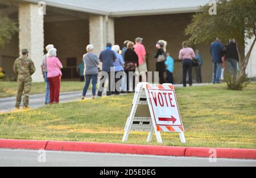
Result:
<svg viewBox="0 0 256 178"><path fill-rule="evenodd" d="M247 87L251 82L250 78L248 78L246 74L243 74L242 77L240 77L240 79L238 80L236 76L233 76L228 72L225 74L225 80L228 84L229 90L239 91L242 91L243 88Z"/></svg>

